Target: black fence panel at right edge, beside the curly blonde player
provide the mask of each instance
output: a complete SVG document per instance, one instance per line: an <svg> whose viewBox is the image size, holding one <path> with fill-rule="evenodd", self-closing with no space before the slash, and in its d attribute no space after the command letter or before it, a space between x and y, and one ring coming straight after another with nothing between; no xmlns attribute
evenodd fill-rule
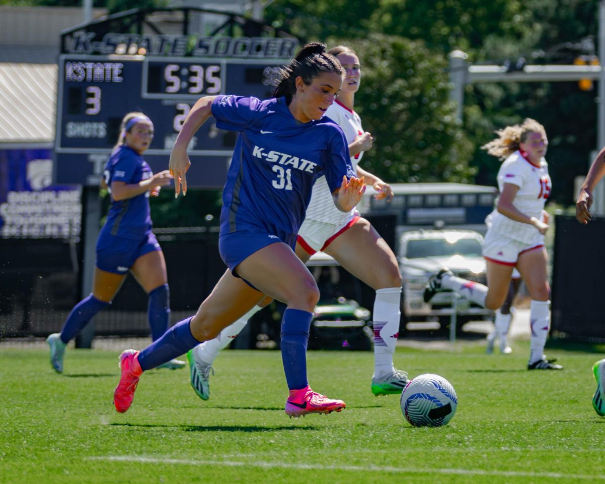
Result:
<svg viewBox="0 0 605 484"><path fill-rule="evenodd" d="M552 331L581 341L605 342L605 217L582 225L555 217Z"/></svg>

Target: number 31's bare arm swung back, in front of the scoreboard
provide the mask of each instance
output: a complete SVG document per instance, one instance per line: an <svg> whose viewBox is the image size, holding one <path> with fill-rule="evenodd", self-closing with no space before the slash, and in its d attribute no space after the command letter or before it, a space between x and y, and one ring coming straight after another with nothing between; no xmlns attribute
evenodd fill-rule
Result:
<svg viewBox="0 0 605 484"><path fill-rule="evenodd" d="M191 166L189 156L187 155L187 147L195 132L211 116L212 101L215 98L216 96L204 96L198 99L191 108L191 111L189 111L183 122L183 126L181 126L181 131L178 133L168 163L168 169L174 177L175 198L180 194L181 187L183 188L183 196L187 194L187 178L185 174L189 166Z"/></svg>

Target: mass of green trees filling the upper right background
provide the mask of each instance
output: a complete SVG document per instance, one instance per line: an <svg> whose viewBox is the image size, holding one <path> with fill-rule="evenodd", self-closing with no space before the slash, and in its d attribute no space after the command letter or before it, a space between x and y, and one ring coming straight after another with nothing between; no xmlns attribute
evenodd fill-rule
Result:
<svg viewBox="0 0 605 484"><path fill-rule="evenodd" d="M364 166L371 163L371 168L390 181L411 181L416 179L417 170L410 168L408 160L414 159L420 180L425 177L424 168L432 165L434 178L443 181L466 177L469 182L494 185L500 162L480 146L494 137L495 129L534 117L545 125L550 140L551 197L569 204L573 201L573 179L586 173L590 152L597 148L596 90L580 91L576 82L469 85L460 129L450 119L453 111L446 96L446 55L460 48L472 63L502 65L507 59L514 62L523 56L530 64L571 64L578 51L561 46L564 42L578 43L586 36L596 39L597 10L597 0L287 0L269 5L266 18L303 41L337 38L357 46L365 77L356 109L377 139L376 149L364 155ZM368 38L382 39L381 34L393 36L388 42L407 45L411 49L408 57L397 54L396 48L368 42ZM422 54L417 46L422 46ZM371 54L364 52L366 48ZM382 61L379 71L384 71L384 76L374 73L374 55ZM421 55L425 62L416 65ZM414 64L411 71L405 64L410 61ZM424 84L433 85L434 90L424 89ZM412 93L416 106L402 92ZM431 92L436 95L427 96ZM423 99L429 100L429 105L434 99L442 103L431 113L417 105ZM382 108L382 102L388 103L387 108ZM427 126L428 133L435 134L433 126L443 136L426 136ZM444 140L447 136L452 138L450 142ZM429 147L419 149L422 143ZM441 154L437 155L439 149ZM414 155L405 157L407 151ZM450 165L444 166L448 157ZM392 168L399 160L405 162L399 169ZM476 171L476 178L467 171L467 165Z"/></svg>

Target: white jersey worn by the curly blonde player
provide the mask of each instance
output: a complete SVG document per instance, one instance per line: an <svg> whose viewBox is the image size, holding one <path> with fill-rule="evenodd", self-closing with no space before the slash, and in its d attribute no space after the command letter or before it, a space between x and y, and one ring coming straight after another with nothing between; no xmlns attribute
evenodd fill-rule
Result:
<svg viewBox="0 0 605 484"><path fill-rule="evenodd" d="M511 154L498 172L498 188L503 191L505 183L517 185L519 190L512 204L522 214L541 220L546 199L551 194L551 177L548 175L548 163L543 158L540 166L534 165L523 157L520 151ZM538 229L533 225L512 220L494 210L492 223L488 231L503 234L525 243L536 240Z"/></svg>

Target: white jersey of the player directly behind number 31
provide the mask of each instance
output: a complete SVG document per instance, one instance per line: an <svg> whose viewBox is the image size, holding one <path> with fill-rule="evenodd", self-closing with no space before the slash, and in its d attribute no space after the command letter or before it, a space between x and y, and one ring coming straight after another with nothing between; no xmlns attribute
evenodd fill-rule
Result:
<svg viewBox="0 0 605 484"><path fill-rule="evenodd" d="M355 141L356 137L364 133L359 115L355 113L355 111L342 105L342 103L339 103L338 100L333 102L327 111L325 111L325 116L332 119L342 128L344 136L347 139L347 145L350 145ZM360 152L351 157L353 170L356 171L357 163L361 160L363 155L364 153ZM325 181L325 177L319 177L315 180L305 220L319 220L338 225L350 218L350 215L353 212L355 212L355 209L345 213L336 208L334 198L332 197L327 181ZM303 235L300 231L299 234Z"/></svg>

